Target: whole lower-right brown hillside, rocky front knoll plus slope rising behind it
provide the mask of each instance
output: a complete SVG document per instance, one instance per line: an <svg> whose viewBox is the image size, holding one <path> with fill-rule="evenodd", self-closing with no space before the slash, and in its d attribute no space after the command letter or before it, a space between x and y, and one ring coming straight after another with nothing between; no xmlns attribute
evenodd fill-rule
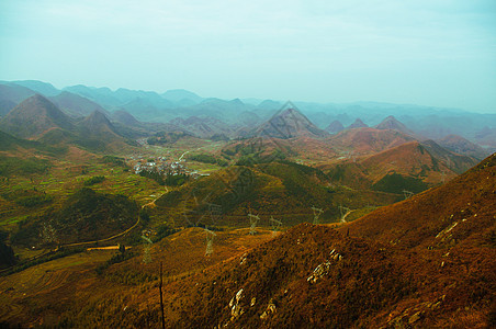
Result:
<svg viewBox="0 0 496 329"><path fill-rule="evenodd" d="M185 286L176 325L493 327L495 175L493 156L339 230L300 225Z"/></svg>

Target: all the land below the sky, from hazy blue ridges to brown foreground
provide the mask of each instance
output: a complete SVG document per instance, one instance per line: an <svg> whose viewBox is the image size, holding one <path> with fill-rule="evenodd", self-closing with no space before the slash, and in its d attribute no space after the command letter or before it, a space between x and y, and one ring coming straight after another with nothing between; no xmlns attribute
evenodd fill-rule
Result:
<svg viewBox="0 0 496 329"><path fill-rule="evenodd" d="M495 115L40 81L0 113L0 327L156 327L158 275L168 327L495 324Z"/></svg>

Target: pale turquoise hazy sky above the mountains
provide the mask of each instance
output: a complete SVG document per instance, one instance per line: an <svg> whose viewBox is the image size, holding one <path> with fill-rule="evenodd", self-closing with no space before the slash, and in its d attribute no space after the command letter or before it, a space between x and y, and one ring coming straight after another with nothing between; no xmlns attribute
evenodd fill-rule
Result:
<svg viewBox="0 0 496 329"><path fill-rule="evenodd" d="M0 0L0 79L496 113L496 0Z"/></svg>

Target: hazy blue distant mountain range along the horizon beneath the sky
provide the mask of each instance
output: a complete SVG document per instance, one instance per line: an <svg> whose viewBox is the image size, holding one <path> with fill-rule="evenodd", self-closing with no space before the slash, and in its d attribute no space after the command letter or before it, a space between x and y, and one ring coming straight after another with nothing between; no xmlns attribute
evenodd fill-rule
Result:
<svg viewBox="0 0 496 329"><path fill-rule="evenodd" d="M252 136L257 129L258 133L264 131L268 133L267 136L284 135L284 138L300 135L323 137L326 135L324 128L327 133L336 134L345 127L352 129L374 126L379 129L415 134L416 138L420 139L441 140L449 135L458 135L483 147L487 150L486 154L496 150L496 114L373 102L350 104L294 102L293 107L298 110L298 124L293 127L286 126L285 133L280 129L274 134L274 131L279 129L277 127L281 125L281 120L292 115L277 114L278 111L288 110L279 101L202 98L181 89L157 93L129 89L112 91L109 88L79 84L58 90L50 83L25 80L0 81L0 116L7 116L23 100L35 93L44 95L71 117L87 116L93 111L99 111L111 121L119 121L119 115L122 116L122 111L125 111L140 123L154 123L154 132L160 129L157 124L170 123L164 127L176 126L202 138L219 134L230 138L246 138ZM113 116L114 112L121 114ZM193 118L188 122L190 117ZM191 124L194 121L196 123ZM120 124L126 125L123 122ZM134 126L137 126L136 122ZM146 127L142 125L142 131L135 133L146 135L148 126ZM306 127L304 128L306 132L303 132L302 127ZM128 136L135 133L126 129ZM481 155L482 152L478 157Z"/></svg>

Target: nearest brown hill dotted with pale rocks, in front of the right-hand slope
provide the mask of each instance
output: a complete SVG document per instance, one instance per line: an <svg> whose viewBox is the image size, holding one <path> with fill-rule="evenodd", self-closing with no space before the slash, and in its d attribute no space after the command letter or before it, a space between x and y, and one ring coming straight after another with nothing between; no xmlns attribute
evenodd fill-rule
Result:
<svg viewBox="0 0 496 329"><path fill-rule="evenodd" d="M494 248L484 251L443 258L301 225L194 277L194 290L184 284L180 294L187 302L173 324L483 328L494 321L496 279Z"/></svg>

